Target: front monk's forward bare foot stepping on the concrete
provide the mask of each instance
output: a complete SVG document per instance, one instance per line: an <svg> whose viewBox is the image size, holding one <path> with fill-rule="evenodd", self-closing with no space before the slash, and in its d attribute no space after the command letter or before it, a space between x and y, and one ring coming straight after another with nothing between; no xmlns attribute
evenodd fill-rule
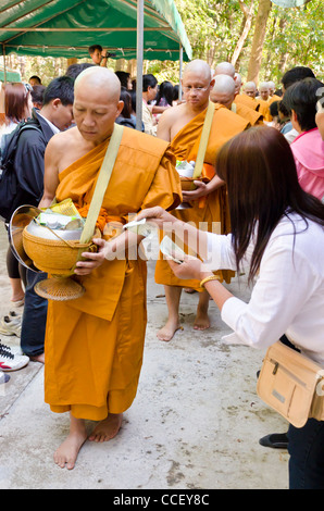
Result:
<svg viewBox="0 0 324 511"><path fill-rule="evenodd" d="M78 452L86 439L87 432L85 422L82 419L74 419L68 437L54 452L54 462L61 469L65 466L67 470L74 469Z"/></svg>

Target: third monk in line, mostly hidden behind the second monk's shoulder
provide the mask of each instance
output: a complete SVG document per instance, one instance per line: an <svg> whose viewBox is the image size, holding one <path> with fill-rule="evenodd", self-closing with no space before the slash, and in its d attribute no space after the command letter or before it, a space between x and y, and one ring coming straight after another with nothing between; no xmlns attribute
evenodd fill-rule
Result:
<svg viewBox="0 0 324 511"><path fill-rule="evenodd" d="M246 119L251 126L263 124L263 116L244 103L235 103L236 86L234 79L228 75L214 76L214 86L210 99L214 103L224 104L228 110Z"/></svg>

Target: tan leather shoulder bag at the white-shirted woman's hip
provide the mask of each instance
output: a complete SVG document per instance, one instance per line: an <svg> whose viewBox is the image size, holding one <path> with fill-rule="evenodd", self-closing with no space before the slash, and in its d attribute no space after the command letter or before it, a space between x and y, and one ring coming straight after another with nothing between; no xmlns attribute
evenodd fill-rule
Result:
<svg viewBox="0 0 324 511"><path fill-rule="evenodd" d="M281 341L264 357L257 394L296 427L308 419L324 421L324 370Z"/></svg>

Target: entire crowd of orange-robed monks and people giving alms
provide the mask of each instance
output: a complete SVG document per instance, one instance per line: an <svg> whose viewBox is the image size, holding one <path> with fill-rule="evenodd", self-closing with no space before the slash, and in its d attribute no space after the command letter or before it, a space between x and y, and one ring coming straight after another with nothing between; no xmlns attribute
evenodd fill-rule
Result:
<svg viewBox="0 0 324 511"><path fill-rule="evenodd" d="M160 340L171 341L180 328L185 289L197 292L194 328L209 328L213 299L234 331L228 342L264 348L286 336L324 366L321 80L298 66L277 87L273 82L257 86L228 62L211 70L195 60L186 65L180 87L144 75L139 130L136 79L109 71L109 54L98 45L89 54L92 64L73 64L47 87L37 76L29 84L7 84L0 128L1 145L22 120L30 117L39 128L18 140L20 203L48 208L54 199L72 198L86 216L114 126L122 126L102 202L105 222L113 219L122 228L117 236L103 228L95 239L98 251L77 262L85 295L71 302L41 298L34 288L47 275L23 267L8 250L13 310L1 320L0 334L18 336L21 351L2 339L0 371L8 378L29 360L45 363L46 402L52 411L70 412L70 434L54 453L55 463L67 469L87 439L104 441L117 434L137 391L146 262L130 260L127 251L116 257L144 239L140 232L123 228L130 214L154 221L161 237L172 225L184 241L182 264L161 256L155 264L169 314L157 333ZM194 162L199 171L189 189L177 162ZM190 236L201 247L194 256ZM229 284L242 263L254 284L249 303L222 284ZM87 419L98 422L90 436ZM290 425L284 444L290 453L289 487L324 488L324 422L312 419L301 429Z"/></svg>

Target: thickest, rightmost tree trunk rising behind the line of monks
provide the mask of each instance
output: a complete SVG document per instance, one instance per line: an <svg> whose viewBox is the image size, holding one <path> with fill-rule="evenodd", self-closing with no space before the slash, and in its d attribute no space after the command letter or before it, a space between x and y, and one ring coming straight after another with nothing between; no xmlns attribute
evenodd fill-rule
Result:
<svg viewBox="0 0 324 511"><path fill-rule="evenodd" d="M266 32L266 22L271 11L271 0L260 0L256 20L254 36L248 67L248 82L254 82L258 85L259 73L262 60L262 48Z"/></svg>

